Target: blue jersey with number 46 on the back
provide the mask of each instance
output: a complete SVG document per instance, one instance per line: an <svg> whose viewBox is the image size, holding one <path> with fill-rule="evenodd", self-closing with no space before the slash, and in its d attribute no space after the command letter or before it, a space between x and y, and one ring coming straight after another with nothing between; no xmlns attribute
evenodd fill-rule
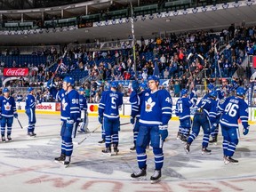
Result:
<svg viewBox="0 0 256 192"><path fill-rule="evenodd" d="M228 97L225 102L220 104L219 108L223 111L220 124L224 124L230 128L237 128L238 119L240 118L244 128L249 126L248 104L243 99L236 96Z"/></svg>

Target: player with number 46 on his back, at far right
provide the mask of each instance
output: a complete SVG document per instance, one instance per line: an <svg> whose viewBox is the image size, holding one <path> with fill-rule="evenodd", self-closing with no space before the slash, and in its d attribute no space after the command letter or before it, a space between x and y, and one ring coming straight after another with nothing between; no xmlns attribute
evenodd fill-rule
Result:
<svg viewBox="0 0 256 192"><path fill-rule="evenodd" d="M238 164L238 160L232 158L239 141L238 119L241 119L244 130L243 134L249 132L248 105L244 101L245 90L243 87L236 89L236 96L228 97L224 103L220 104L223 111L220 117L220 126L223 136L222 148L224 154L224 164Z"/></svg>

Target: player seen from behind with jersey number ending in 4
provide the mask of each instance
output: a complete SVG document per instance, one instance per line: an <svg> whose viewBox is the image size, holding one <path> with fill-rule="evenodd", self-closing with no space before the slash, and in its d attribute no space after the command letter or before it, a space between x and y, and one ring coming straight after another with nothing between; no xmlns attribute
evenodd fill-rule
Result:
<svg viewBox="0 0 256 192"><path fill-rule="evenodd" d="M187 142L188 135L191 129L191 118L190 118L190 108L193 103L188 99L188 90L181 90L181 97L176 102L175 114L179 116L180 127L178 135L180 140Z"/></svg>

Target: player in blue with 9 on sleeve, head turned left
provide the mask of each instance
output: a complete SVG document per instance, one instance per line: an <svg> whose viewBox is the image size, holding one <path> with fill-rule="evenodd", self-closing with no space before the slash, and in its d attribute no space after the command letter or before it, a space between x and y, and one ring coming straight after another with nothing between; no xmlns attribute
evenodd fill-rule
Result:
<svg viewBox="0 0 256 192"><path fill-rule="evenodd" d="M68 167L73 153L72 134L76 137L76 122L80 121L79 94L73 89L75 80L66 76L63 79L63 90L60 92L61 99L61 154L56 157L55 161L63 162L65 167Z"/></svg>

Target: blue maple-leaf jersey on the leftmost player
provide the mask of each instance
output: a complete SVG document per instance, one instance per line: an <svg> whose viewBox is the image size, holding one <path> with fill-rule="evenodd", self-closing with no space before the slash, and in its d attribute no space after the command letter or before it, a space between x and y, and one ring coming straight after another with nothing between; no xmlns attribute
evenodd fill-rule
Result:
<svg viewBox="0 0 256 192"><path fill-rule="evenodd" d="M0 113L1 116L5 117L13 117L13 114L17 114L16 103L13 97L0 97Z"/></svg>

